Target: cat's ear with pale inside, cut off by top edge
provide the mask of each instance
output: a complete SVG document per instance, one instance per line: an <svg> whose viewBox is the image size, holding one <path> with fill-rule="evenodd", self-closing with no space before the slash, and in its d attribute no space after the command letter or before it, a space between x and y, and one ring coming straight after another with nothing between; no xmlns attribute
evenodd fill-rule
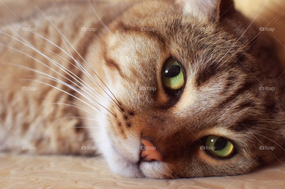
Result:
<svg viewBox="0 0 285 189"><path fill-rule="evenodd" d="M185 14L218 21L235 11L233 0L180 0Z"/></svg>

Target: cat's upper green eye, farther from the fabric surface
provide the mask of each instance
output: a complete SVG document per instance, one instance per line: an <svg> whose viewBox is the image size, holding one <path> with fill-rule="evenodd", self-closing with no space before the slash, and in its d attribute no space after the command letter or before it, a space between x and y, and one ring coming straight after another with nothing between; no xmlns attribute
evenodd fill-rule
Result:
<svg viewBox="0 0 285 189"><path fill-rule="evenodd" d="M179 90L184 86L182 68L179 63L172 58L169 58L165 62L162 81L165 87L170 90Z"/></svg>

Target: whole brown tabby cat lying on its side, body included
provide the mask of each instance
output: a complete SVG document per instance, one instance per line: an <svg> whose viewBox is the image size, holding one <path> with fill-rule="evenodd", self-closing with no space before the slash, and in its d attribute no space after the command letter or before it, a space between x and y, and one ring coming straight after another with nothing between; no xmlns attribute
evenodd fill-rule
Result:
<svg viewBox="0 0 285 189"><path fill-rule="evenodd" d="M284 153L274 43L232 0L34 3L1 21L2 152L103 155L159 179Z"/></svg>

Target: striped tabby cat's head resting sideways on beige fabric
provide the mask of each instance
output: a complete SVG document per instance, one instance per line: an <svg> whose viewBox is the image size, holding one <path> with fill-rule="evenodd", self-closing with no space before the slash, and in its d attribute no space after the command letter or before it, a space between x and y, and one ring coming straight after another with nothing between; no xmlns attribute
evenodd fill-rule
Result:
<svg viewBox="0 0 285 189"><path fill-rule="evenodd" d="M143 1L108 26L100 61L113 100L98 145L112 170L233 175L274 158L282 88L250 24L232 1L183 0Z"/></svg>

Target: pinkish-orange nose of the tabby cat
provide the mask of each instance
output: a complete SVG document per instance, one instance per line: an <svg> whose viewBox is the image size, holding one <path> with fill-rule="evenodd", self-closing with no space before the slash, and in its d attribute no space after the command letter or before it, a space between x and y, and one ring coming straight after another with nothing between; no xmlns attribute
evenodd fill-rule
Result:
<svg viewBox="0 0 285 189"><path fill-rule="evenodd" d="M143 161L162 161L162 154L156 149L156 147L147 139L142 139L144 147L141 151L141 158Z"/></svg>

